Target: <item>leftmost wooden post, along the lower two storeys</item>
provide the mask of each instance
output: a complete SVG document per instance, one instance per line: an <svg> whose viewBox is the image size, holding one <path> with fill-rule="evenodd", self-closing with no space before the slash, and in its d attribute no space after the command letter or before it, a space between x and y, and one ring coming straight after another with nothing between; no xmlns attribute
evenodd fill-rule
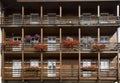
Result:
<svg viewBox="0 0 120 83"><path fill-rule="evenodd" d="M2 28L2 43L5 43L4 40L5 39L5 30L4 28ZM2 49L2 79L4 79L4 49Z"/></svg>

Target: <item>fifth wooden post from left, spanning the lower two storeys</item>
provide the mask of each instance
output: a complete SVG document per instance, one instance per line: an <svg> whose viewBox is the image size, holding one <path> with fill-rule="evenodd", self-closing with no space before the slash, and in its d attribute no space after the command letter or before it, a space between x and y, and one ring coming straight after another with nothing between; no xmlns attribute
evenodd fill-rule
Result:
<svg viewBox="0 0 120 83"><path fill-rule="evenodd" d="M80 49L80 43L81 43L81 29L78 29L78 39L79 39L79 61L78 61L78 80L81 79L81 49Z"/></svg>

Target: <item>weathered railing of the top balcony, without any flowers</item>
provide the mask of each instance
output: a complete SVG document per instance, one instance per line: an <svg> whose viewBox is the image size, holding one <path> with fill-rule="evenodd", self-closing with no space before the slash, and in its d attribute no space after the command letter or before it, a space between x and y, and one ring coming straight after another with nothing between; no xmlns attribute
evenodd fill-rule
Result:
<svg viewBox="0 0 120 83"><path fill-rule="evenodd" d="M98 25L98 24L119 24L120 20L117 16L82 16L78 18L77 16L64 16L60 17L46 17L44 16L42 19L38 17L37 20L31 21L30 16L25 16L23 19L13 19L12 16L1 18L1 24L3 25Z"/></svg>

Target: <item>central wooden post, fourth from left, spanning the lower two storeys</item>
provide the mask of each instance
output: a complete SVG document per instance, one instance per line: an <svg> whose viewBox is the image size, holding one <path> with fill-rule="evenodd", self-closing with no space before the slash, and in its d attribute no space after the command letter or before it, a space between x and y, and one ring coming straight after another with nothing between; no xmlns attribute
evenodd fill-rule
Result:
<svg viewBox="0 0 120 83"><path fill-rule="evenodd" d="M60 36L60 82L61 82L62 81L62 50L61 50L62 28L59 29L59 36Z"/></svg>

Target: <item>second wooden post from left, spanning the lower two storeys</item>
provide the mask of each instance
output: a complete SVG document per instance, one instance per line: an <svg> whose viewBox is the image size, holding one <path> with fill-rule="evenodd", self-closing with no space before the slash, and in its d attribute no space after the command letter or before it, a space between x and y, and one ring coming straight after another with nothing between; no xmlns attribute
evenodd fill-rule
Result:
<svg viewBox="0 0 120 83"><path fill-rule="evenodd" d="M22 81L24 82L24 28L22 28Z"/></svg>

